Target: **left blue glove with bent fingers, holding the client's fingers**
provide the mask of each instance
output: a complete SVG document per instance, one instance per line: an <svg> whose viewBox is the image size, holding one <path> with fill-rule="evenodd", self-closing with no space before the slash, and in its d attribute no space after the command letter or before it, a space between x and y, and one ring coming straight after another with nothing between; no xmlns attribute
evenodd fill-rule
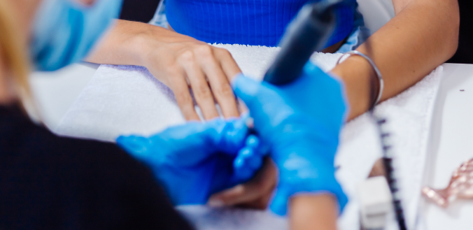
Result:
<svg viewBox="0 0 473 230"><path fill-rule="evenodd" d="M247 134L243 120L213 120L171 127L149 138L120 136L117 143L152 168L175 205L204 204L262 166L259 140Z"/></svg>

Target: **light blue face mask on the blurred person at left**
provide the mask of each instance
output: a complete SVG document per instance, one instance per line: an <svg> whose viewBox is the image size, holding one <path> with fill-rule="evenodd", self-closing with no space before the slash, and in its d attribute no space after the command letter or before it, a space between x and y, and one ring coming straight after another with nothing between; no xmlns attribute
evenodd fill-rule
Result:
<svg viewBox="0 0 473 230"><path fill-rule="evenodd" d="M80 62L118 17L121 5L122 0L97 0L92 6L74 0L44 0L30 45L36 70L55 71Z"/></svg>

